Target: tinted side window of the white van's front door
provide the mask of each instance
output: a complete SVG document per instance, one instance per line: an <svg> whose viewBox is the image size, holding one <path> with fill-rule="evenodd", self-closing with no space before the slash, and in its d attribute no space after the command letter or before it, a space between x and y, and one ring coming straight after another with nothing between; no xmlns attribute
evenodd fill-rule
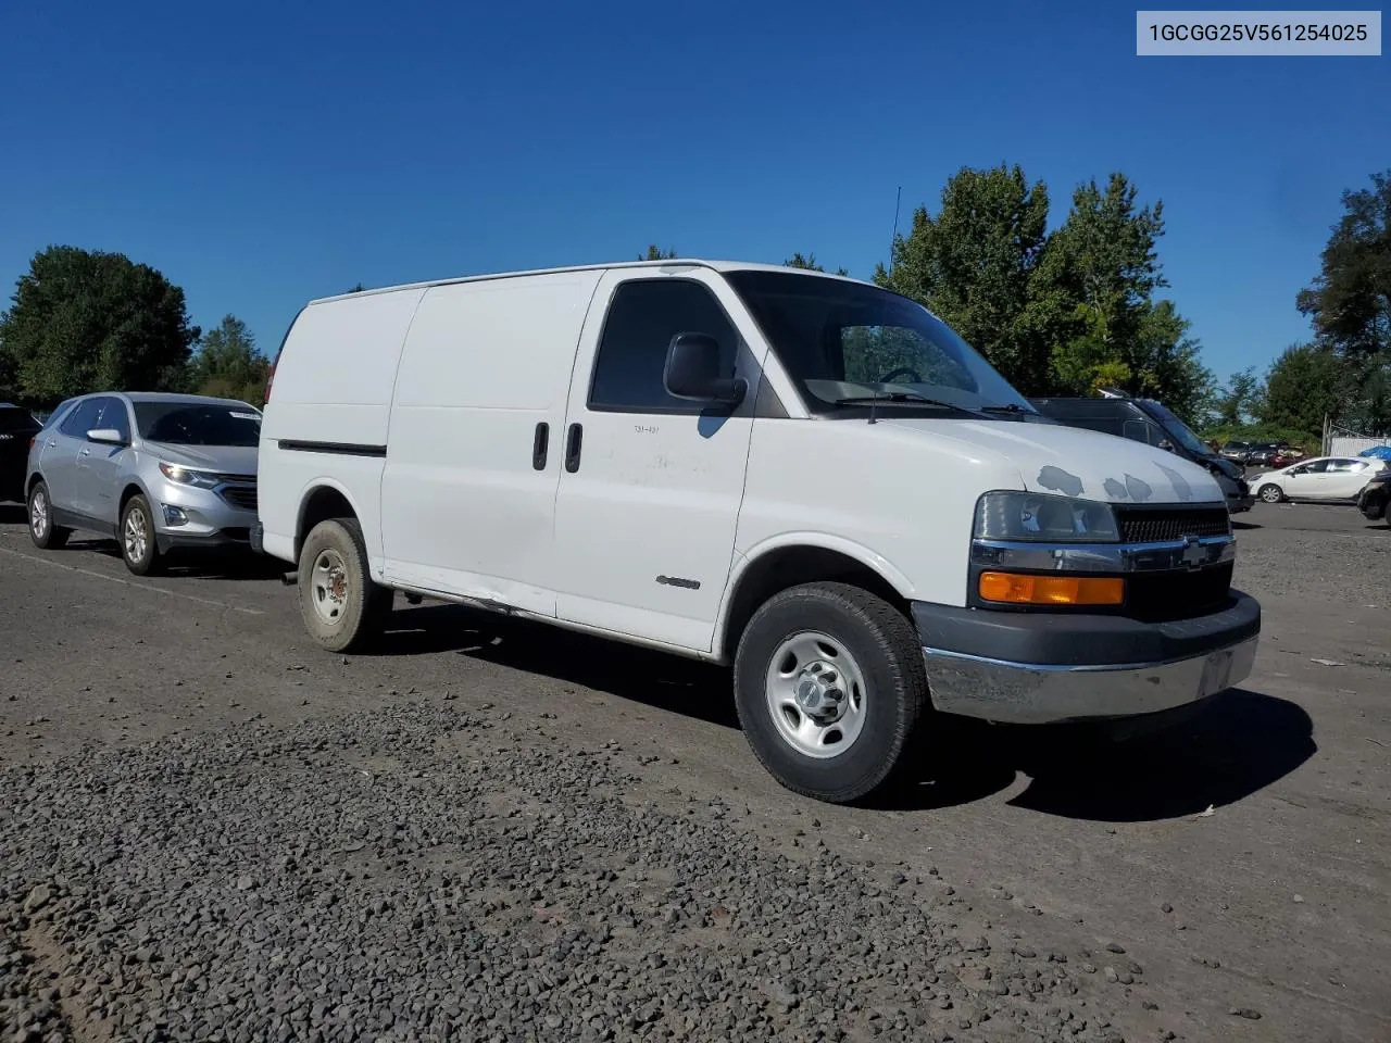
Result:
<svg viewBox="0 0 1391 1043"><path fill-rule="evenodd" d="M715 295L689 280L634 280L613 295L590 384L601 413L698 413L701 406L666 394L662 371L677 334L705 334L721 348L721 370L734 375L739 334Z"/></svg>

